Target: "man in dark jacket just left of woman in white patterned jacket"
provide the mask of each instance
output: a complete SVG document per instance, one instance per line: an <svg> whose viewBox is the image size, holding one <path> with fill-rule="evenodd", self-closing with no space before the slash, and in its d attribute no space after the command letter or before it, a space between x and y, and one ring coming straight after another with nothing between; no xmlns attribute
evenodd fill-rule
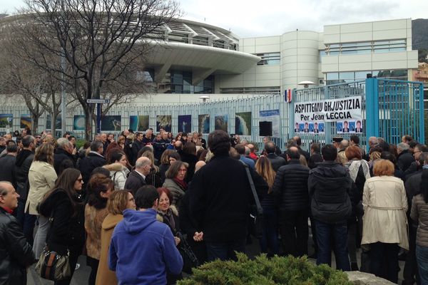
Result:
<svg viewBox="0 0 428 285"><path fill-rule="evenodd" d="M83 157L78 167L83 177L83 187L88 185L92 170L103 165L106 165L106 158L103 157L103 142L94 140L91 143L91 151L88 156Z"/></svg>

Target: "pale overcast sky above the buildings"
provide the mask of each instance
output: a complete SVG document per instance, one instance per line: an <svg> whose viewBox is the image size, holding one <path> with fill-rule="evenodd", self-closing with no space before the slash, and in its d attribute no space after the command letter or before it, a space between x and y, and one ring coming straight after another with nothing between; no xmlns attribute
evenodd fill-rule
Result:
<svg viewBox="0 0 428 285"><path fill-rule="evenodd" d="M181 0L183 18L230 29L240 38L287 31L322 31L327 24L387 19L428 19L428 0ZM22 0L0 0L12 14Z"/></svg>

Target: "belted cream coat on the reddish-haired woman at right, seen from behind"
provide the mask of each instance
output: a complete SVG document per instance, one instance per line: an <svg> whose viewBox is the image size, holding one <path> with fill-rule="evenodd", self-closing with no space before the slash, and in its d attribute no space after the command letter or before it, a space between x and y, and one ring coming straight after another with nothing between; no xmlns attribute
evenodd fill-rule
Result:
<svg viewBox="0 0 428 285"><path fill-rule="evenodd" d="M397 177L377 176L366 180L362 196L361 244L383 242L409 249L407 238L407 197Z"/></svg>

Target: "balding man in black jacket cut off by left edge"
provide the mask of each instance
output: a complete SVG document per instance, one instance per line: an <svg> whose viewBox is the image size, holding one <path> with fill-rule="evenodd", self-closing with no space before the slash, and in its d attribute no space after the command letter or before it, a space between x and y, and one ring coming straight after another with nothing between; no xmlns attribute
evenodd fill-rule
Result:
<svg viewBox="0 0 428 285"><path fill-rule="evenodd" d="M9 182L0 181L0 280L1 284L26 284L26 269L34 253L18 220L12 215L19 194Z"/></svg>

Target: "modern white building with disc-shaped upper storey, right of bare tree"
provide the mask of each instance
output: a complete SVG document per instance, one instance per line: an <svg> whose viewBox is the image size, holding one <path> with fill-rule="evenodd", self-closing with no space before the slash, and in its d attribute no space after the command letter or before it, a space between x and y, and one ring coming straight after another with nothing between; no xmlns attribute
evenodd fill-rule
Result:
<svg viewBox="0 0 428 285"><path fill-rule="evenodd" d="M184 95L191 93L212 98L283 93L302 88L301 81L316 86L343 83L365 79L368 73L411 81L418 68L411 19L240 39L222 28L191 21L176 20L169 26L168 48L160 48L148 63L157 93L151 102L198 101L199 96ZM174 99L159 93L183 95Z"/></svg>

